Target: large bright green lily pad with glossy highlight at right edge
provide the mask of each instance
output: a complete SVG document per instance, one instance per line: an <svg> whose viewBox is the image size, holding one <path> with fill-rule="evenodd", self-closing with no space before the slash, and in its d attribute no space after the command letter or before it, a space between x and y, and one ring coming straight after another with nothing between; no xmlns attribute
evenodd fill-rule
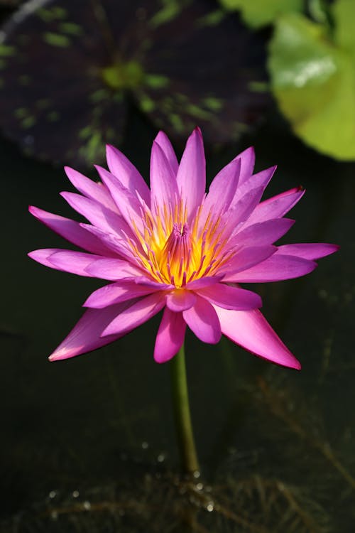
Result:
<svg viewBox="0 0 355 533"><path fill-rule="evenodd" d="M285 15L269 48L273 94L293 130L306 144L341 160L355 159L354 18L351 0L335 4L331 36L325 25Z"/></svg>

